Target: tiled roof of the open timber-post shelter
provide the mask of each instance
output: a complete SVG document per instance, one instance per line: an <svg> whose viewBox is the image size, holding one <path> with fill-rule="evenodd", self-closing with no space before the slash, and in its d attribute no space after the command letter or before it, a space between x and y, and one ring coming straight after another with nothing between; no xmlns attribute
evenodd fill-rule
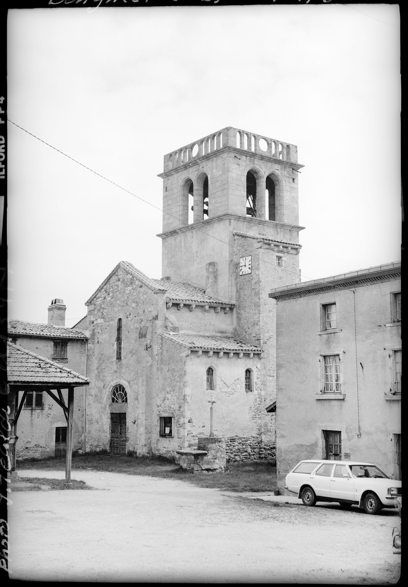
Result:
<svg viewBox="0 0 408 587"><path fill-rule="evenodd" d="M7 343L7 381L10 384L67 387L88 385L89 379L21 346Z"/></svg>

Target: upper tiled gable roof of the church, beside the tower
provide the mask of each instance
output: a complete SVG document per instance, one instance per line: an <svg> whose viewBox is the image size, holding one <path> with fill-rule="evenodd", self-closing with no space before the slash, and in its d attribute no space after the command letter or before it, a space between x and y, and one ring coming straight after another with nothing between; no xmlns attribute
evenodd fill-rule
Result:
<svg viewBox="0 0 408 587"><path fill-rule="evenodd" d="M123 269L128 274L133 275L138 279L138 281L140 281L156 294L166 294L166 298L168 300L174 300L180 303L208 303L209 305L222 305L234 308L233 303L206 295L205 289L199 288L196 285L182 283L179 281L167 281L166 279L151 279L128 261L120 261L115 266L113 271L110 272L107 278L104 279L104 281L98 287L96 292L94 292L94 294L92 294L91 297L85 302L86 305L92 303L94 297L97 295L100 289L103 288L103 286L109 281L111 276L113 276L114 273L118 271L119 268Z"/></svg>

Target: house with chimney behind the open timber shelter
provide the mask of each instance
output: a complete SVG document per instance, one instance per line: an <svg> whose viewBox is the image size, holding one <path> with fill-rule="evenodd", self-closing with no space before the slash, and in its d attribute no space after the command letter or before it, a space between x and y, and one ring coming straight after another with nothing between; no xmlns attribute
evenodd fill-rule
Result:
<svg viewBox="0 0 408 587"><path fill-rule="evenodd" d="M48 323L11 320L8 339L23 349L39 355L75 373L86 375L87 337L79 330L65 328L66 306L53 299L48 308ZM74 394L73 448L83 449L84 387ZM63 390L67 403L67 390ZM63 410L45 392L29 392L18 424L16 458L64 456L67 422Z"/></svg>

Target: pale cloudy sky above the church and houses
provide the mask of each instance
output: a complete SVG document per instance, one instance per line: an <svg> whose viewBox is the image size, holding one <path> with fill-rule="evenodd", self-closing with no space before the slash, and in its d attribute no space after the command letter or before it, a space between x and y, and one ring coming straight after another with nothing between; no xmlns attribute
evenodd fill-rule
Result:
<svg viewBox="0 0 408 587"><path fill-rule="evenodd" d="M163 155L225 126L298 146L302 279L400 259L397 5L11 10L8 118L161 208ZM162 214L8 124L9 317L66 325ZM291 280L290 280L291 281Z"/></svg>

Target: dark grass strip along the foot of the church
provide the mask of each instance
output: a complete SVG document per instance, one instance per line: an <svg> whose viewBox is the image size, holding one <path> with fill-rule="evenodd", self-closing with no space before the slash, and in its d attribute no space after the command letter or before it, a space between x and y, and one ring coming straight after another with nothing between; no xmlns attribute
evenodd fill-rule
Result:
<svg viewBox="0 0 408 587"><path fill-rule="evenodd" d="M29 459L18 461L18 469L65 470L64 458ZM73 471L109 471L129 475L150 475L165 479L188 481L198 487L225 491L273 491L276 489L276 466L267 461L227 464L225 473L186 473L174 461L165 457L118 457L105 451L73 455Z"/></svg>

